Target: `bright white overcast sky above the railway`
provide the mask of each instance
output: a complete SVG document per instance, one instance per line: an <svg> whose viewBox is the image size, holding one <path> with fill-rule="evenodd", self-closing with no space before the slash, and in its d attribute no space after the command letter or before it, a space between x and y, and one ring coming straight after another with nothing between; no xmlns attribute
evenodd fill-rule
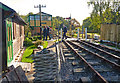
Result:
<svg viewBox="0 0 120 83"><path fill-rule="evenodd" d="M0 2L14 9L17 13L26 15L29 12L38 13L39 9L34 5L46 5L42 12L51 14L53 17L69 17L77 19L80 24L90 16L92 8L87 5L89 0L0 0Z"/></svg>

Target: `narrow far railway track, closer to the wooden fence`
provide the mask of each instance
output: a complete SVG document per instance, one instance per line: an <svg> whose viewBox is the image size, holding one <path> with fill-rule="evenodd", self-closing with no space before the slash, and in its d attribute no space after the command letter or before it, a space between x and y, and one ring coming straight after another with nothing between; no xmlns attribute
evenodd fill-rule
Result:
<svg viewBox="0 0 120 83"><path fill-rule="evenodd" d="M108 51L105 51L103 49L100 49L100 48L98 48L98 47L96 47L94 45L88 44L88 43L83 42L83 41L75 41L75 43L82 46L82 47L84 47L84 48L86 48L89 51L92 51L94 53L99 54L100 56L106 58L109 61L114 62L117 65L120 65L120 57L115 55L115 54L112 54L112 53L110 53Z"/></svg>

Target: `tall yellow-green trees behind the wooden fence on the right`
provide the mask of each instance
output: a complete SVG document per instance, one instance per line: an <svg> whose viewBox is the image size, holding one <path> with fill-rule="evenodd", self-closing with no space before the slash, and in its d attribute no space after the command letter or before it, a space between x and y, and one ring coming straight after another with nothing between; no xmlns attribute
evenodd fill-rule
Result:
<svg viewBox="0 0 120 83"><path fill-rule="evenodd" d="M90 17L83 20L82 25L88 28L88 32L100 33L101 24L120 24L120 14L118 13L120 7L118 7L118 2L115 3L113 0L89 1L88 6L92 6L93 11Z"/></svg>

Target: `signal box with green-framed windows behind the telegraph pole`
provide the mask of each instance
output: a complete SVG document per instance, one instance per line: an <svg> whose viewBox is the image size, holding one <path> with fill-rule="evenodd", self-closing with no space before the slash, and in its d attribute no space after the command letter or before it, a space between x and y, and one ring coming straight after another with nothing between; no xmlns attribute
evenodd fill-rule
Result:
<svg viewBox="0 0 120 83"><path fill-rule="evenodd" d="M40 14L33 14L28 16L29 26L32 29L32 35L40 34ZM52 27L52 15L41 12L42 27L48 25Z"/></svg>

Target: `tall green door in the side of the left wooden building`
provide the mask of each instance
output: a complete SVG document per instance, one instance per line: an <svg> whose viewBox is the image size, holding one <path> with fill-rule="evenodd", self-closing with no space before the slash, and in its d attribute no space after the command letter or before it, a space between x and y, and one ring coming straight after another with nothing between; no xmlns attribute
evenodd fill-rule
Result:
<svg viewBox="0 0 120 83"><path fill-rule="evenodd" d="M13 60L12 19L6 20L7 31L7 63Z"/></svg>

